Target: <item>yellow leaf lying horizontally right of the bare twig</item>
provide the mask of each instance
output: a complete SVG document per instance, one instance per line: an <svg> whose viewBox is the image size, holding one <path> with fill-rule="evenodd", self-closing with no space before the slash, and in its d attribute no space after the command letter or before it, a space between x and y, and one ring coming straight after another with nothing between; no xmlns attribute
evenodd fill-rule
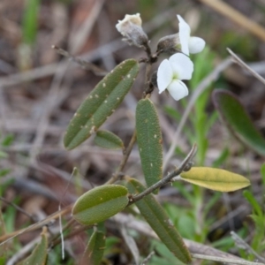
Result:
<svg viewBox="0 0 265 265"><path fill-rule="evenodd" d="M239 174L207 167L193 167L182 172L180 177L192 184L219 192L233 192L250 186L249 180Z"/></svg>

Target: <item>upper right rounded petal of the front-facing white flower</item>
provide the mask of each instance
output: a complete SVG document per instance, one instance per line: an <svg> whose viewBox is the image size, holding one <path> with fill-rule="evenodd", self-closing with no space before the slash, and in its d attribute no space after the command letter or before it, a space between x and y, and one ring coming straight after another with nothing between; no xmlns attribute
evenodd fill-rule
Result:
<svg viewBox="0 0 265 265"><path fill-rule="evenodd" d="M178 79L188 80L193 75L192 60L182 53L176 53L170 57L170 64L173 72L177 73Z"/></svg>

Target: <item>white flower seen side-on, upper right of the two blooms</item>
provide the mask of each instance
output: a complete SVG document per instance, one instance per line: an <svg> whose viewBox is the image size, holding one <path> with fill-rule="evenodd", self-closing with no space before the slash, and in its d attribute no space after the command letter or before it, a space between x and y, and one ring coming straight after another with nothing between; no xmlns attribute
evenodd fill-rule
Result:
<svg viewBox="0 0 265 265"><path fill-rule="evenodd" d="M186 24L180 15L178 17L179 27L179 41L181 44L181 51L186 55L190 53L198 53L204 49L205 42L199 37L191 37L191 28Z"/></svg>

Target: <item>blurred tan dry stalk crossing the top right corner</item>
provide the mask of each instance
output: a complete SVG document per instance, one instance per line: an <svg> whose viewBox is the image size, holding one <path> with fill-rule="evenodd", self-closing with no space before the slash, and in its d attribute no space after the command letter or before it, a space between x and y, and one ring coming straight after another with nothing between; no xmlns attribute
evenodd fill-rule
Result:
<svg viewBox="0 0 265 265"><path fill-rule="evenodd" d="M215 11L223 14L223 16L231 19L239 26L245 28L250 33L254 34L261 41L265 42L265 30L251 19L246 18L239 11L232 8L229 4L223 3L221 0L200 0L203 4L207 4Z"/></svg>

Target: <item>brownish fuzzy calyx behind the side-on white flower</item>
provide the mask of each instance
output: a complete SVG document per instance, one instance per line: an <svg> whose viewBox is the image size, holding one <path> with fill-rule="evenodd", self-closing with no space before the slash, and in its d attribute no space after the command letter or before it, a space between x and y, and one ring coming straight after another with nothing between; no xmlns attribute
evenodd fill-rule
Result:
<svg viewBox="0 0 265 265"><path fill-rule="evenodd" d="M181 51L181 44L179 41L178 34L164 36L157 43L156 52L167 52L170 54L174 54L179 51Z"/></svg>

